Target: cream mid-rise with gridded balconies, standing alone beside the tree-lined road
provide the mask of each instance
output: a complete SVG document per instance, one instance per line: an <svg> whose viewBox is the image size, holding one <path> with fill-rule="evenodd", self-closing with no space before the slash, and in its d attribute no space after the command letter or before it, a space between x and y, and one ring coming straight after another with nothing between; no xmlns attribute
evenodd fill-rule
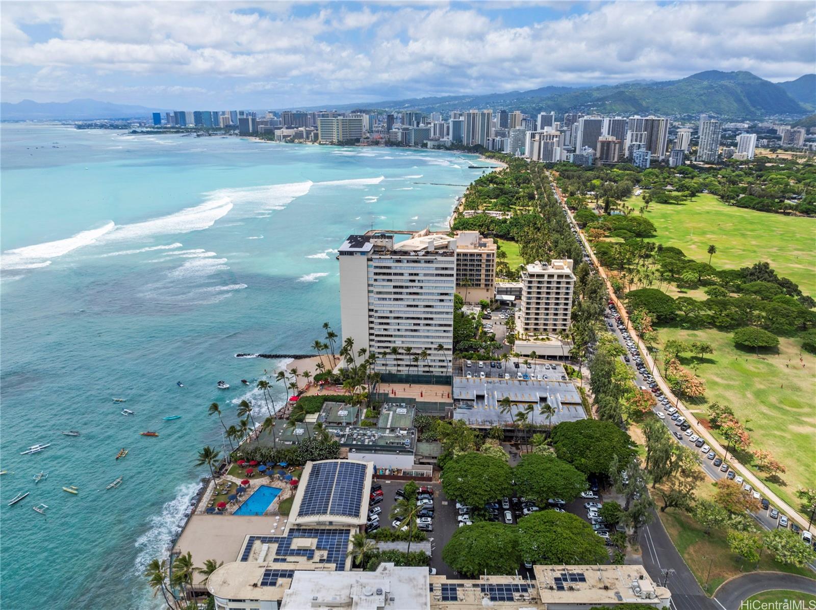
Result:
<svg viewBox="0 0 816 610"><path fill-rule="evenodd" d="M557 334L570 327L575 276L572 261L535 262L521 272L517 328L525 334Z"/></svg>

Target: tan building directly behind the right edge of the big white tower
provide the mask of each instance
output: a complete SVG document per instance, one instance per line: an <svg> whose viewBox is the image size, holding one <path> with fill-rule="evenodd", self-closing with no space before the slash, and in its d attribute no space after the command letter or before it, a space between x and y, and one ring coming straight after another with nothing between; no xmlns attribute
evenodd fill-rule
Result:
<svg viewBox="0 0 816 610"><path fill-rule="evenodd" d="M456 233L456 292L465 303L490 301L496 283L496 245L477 231Z"/></svg>

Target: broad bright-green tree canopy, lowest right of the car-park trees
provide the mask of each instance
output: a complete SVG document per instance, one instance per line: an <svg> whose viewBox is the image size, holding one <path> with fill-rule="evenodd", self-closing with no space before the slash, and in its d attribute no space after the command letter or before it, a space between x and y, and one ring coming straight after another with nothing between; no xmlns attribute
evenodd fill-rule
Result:
<svg viewBox="0 0 816 610"><path fill-rule="evenodd" d="M603 564L609 557L603 539L570 513L539 511L518 521L518 545L534 564Z"/></svg>

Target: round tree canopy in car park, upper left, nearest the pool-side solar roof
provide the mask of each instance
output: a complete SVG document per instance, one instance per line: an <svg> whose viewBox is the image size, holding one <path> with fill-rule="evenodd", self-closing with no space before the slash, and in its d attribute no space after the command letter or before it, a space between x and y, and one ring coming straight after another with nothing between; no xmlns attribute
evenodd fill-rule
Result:
<svg viewBox="0 0 816 610"><path fill-rule="evenodd" d="M468 506L485 506L486 502L512 494L508 463L475 451L447 462L441 479L446 496Z"/></svg>

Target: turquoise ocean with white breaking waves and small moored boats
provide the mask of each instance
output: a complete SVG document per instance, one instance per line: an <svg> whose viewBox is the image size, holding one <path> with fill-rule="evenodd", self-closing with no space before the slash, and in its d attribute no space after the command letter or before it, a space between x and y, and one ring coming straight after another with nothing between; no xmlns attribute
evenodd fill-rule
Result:
<svg viewBox="0 0 816 610"><path fill-rule="evenodd" d="M237 421L240 380L280 364L234 355L308 352L324 321L339 332L344 238L445 228L464 190L449 185L482 170L450 152L70 126L0 138L2 608L160 607L140 572L206 472L197 451L222 444L206 408Z"/></svg>

